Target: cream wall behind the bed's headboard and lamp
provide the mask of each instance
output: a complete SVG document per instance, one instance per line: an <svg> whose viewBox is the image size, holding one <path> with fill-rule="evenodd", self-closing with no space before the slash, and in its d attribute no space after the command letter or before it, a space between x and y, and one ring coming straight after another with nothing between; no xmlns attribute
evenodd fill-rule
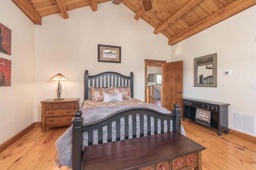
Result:
<svg viewBox="0 0 256 170"><path fill-rule="evenodd" d="M62 84L62 97L84 99L84 71L97 74L116 71L124 75L134 72L134 97L144 101L144 59L170 61L171 46L162 34L139 19L123 4L111 1L68 11L69 18L60 14L42 19L36 25L35 57L35 121L41 121L41 103L56 98L56 85L48 81L61 73L69 79ZM48 46L47 42L51 42ZM121 63L98 62L98 44L121 46Z"/></svg>

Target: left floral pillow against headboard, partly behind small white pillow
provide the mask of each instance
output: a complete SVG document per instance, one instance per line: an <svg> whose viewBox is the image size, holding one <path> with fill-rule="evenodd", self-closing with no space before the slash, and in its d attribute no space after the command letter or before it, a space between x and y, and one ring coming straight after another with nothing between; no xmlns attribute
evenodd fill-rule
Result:
<svg viewBox="0 0 256 170"><path fill-rule="evenodd" d="M96 88L90 87L92 89L92 101L103 101L103 93L113 94L113 87L105 87L105 88Z"/></svg>

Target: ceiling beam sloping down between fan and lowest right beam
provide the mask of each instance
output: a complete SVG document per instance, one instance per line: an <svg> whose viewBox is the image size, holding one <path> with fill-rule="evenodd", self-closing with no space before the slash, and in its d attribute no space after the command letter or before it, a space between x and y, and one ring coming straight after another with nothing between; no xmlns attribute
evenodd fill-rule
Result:
<svg viewBox="0 0 256 170"><path fill-rule="evenodd" d="M198 4L199 2L201 2L201 0L188 0L186 1L180 8L178 8L171 16L168 17L168 19L165 22L162 22L155 30L154 30L154 34L158 34L159 32L161 32L162 30L164 30L166 27L168 27L168 25L172 22L174 22L175 20L177 20L178 18L180 18L180 16L182 16L183 14L185 14L186 12L188 12L188 10L190 10L191 8L193 8L194 6L196 6L196 4Z"/></svg>

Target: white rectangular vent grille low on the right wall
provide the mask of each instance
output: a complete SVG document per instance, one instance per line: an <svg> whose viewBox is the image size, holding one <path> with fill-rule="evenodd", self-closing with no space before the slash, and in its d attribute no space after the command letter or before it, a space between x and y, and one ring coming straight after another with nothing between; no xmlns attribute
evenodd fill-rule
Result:
<svg viewBox="0 0 256 170"><path fill-rule="evenodd" d="M232 112L232 128L255 136L255 117Z"/></svg>

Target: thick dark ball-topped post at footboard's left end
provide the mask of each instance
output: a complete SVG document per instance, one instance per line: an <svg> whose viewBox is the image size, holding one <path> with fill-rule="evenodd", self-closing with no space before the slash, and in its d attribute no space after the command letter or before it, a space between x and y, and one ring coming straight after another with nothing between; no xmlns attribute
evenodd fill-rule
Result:
<svg viewBox="0 0 256 170"><path fill-rule="evenodd" d="M72 119L72 170L80 170L82 166L82 111L76 110Z"/></svg>

